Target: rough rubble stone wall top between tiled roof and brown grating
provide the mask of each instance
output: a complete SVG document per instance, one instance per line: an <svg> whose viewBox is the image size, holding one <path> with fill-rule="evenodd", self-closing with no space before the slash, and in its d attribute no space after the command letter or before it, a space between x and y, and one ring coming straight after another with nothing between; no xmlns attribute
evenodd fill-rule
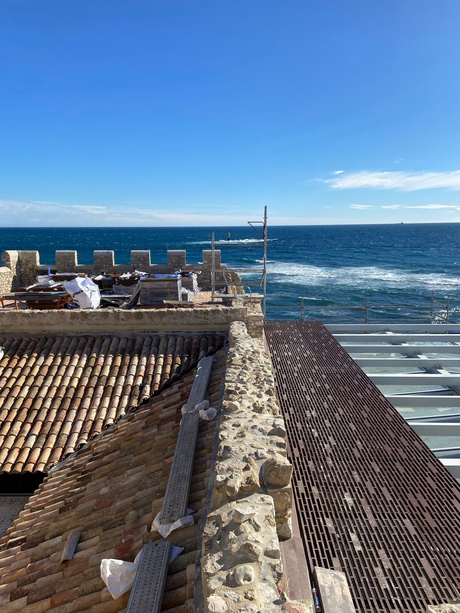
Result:
<svg viewBox="0 0 460 613"><path fill-rule="evenodd" d="M278 537L290 538L292 466L270 356L242 322L229 327L211 509L203 534L208 613L311 612L281 592ZM281 592L281 593L280 593Z"/></svg>

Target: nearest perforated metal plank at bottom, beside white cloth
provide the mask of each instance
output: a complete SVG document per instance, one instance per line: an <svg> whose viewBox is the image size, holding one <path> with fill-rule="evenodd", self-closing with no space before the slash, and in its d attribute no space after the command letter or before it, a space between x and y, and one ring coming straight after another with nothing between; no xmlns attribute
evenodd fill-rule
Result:
<svg viewBox="0 0 460 613"><path fill-rule="evenodd" d="M171 557L171 541L148 541L137 567L126 613L159 613Z"/></svg>

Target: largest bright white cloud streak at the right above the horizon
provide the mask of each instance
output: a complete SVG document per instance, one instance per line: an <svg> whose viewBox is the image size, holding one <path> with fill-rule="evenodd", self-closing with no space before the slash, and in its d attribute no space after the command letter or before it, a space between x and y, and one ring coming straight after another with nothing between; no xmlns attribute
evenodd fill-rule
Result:
<svg viewBox="0 0 460 613"><path fill-rule="evenodd" d="M460 170L449 172L361 172L347 173L345 177L320 179L329 183L332 189L397 189L416 191L418 189L448 188L460 189Z"/></svg>

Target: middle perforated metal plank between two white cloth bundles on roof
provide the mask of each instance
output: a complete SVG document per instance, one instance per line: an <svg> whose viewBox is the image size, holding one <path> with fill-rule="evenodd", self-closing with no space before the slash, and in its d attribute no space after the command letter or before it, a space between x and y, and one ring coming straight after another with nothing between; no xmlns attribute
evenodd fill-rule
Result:
<svg viewBox="0 0 460 613"><path fill-rule="evenodd" d="M161 509L161 524L170 524L186 514L198 422L198 411L185 413L182 417Z"/></svg>

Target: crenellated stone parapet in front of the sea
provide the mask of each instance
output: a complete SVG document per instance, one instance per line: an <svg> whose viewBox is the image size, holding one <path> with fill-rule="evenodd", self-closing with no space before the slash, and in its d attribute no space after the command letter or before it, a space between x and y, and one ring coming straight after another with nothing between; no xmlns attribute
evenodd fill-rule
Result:
<svg viewBox="0 0 460 613"><path fill-rule="evenodd" d="M215 251L215 267L222 270L222 273L216 273L217 281L240 283L240 276L227 268L226 264L221 263L221 254L218 249ZM2 270L3 268L6 270ZM93 264L79 264L77 251L59 249L56 251L55 264L40 264L38 251L10 250L2 253L0 291L5 293L11 289L34 283L37 275L45 275L48 268L52 272L79 272L88 275L99 275L104 272L134 272L134 270L167 274L190 268L201 272L198 277L198 285L204 290L209 290L212 257L210 249L204 249L202 262L187 264L185 249L168 249L166 264L151 264L150 249L133 249L131 264L115 264L115 254L111 249L96 249L93 252ZM237 292L242 294L242 288L237 287Z"/></svg>

